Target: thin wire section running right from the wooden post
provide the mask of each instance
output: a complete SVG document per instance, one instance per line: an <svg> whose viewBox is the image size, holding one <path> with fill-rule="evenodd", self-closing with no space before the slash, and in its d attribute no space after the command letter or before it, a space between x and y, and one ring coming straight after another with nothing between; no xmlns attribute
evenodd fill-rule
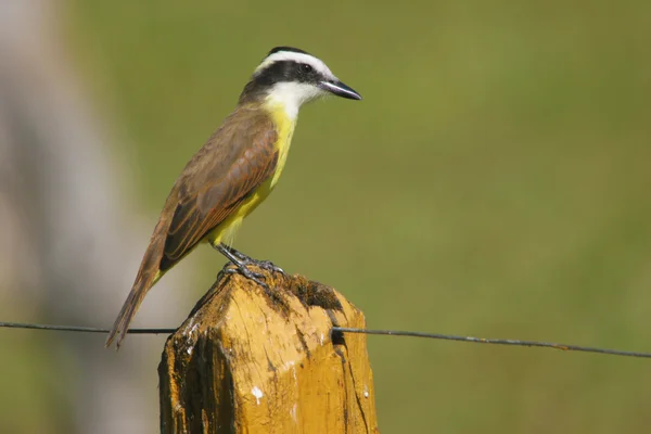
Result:
<svg viewBox="0 0 651 434"><path fill-rule="evenodd" d="M398 331L398 330L350 329L350 328L346 328L346 327L333 327L332 331L333 332L342 332L342 333L365 333L365 334L380 334L380 335L392 335L392 336L429 337L429 339L445 340L445 341L470 342L470 343L474 343L474 344L537 346L537 347L542 347L542 348L561 349L564 352L584 352L584 353L609 354L612 356L651 358L651 353L624 352L624 350L620 350L620 349L608 349L608 348L596 348L596 347L590 347L590 346L557 344L557 343L552 343L552 342L485 339L485 337L473 337L473 336L456 336L454 334L407 332L407 331Z"/></svg>

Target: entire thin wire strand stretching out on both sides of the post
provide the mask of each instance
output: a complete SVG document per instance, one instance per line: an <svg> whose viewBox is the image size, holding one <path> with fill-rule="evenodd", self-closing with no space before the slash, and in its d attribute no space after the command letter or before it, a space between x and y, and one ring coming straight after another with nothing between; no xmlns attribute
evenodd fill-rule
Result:
<svg viewBox="0 0 651 434"><path fill-rule="evenodd" d="M60 331L60 332L85 332L85 333L108 333L110 332L108 329L101 329L101 328L94 328L94 327L51 326L51 324L33 324L33 323L24 323L24 322L1 322L1 321L0 321L0 328L51 330L51 331ZM130 333L130 334L170 334L170 333L174 333L176 330L177 329L129 329L127 331L127 333ZM558 344L558 343L552 343L552 342L458 336L458 335L454 335L454 334L409 332L409 331L400 331L400 330L354 329L354 328L347 328L347 327L333 327L332 332L335 332L335 333L363 333L363 334L388 335L388 336L425 337L425 339L434 339L434 340L443 340L443 341L468 342L468 343L473 343L473 344L541 347L541 348L560 349L563 352L583 352L583 353L607 354L607 355L611 355L611 356L622 356L622 357L651 358L651 353L626 352L626 350L620 350L620 349L597 348L597 347L590 347L590 346L570 345L570 344Z"/></svg>

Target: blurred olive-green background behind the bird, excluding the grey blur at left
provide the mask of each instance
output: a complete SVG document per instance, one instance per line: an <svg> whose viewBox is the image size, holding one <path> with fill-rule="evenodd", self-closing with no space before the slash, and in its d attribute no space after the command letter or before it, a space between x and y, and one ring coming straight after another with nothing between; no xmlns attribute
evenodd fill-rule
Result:
<svg viewBox="0 0 651 434"><path fill-rule="evenodd" d="M651 349L650 2L64 4L152 228L259 60L295 46L365 100L302 111L238 248L336 288L369 328ZM188 263L178 320L224 259ZM644 359L374 336L369 353L383 433L651 423Z"/></svg>

